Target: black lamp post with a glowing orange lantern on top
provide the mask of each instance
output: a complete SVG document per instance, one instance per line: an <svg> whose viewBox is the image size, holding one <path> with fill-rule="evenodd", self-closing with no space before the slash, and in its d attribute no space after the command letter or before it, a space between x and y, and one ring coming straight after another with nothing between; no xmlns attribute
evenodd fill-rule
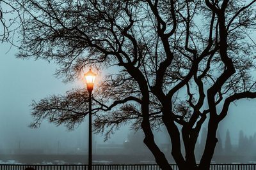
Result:
<svg viewBox="0 0 256 170"><path fill-rule="evenodd" d="M88 169L92 170L92 90L96 74L90 69L84 74L87 90L89 92L89 145L88 145Z"/></svg>

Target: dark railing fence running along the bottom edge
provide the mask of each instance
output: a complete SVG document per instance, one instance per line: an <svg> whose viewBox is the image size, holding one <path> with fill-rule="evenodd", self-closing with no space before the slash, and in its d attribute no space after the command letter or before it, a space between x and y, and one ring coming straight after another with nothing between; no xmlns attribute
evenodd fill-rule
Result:
<svg viewBox="0 0 256 170"><path fill-rule="evenodd" d="M173 170L178 170L177 165L171 164ZM25 165L25 164L0 164L1 170L25 170L33 167L35 170L88 170L87 165ZM93 165L93 170L158 170L154 164L116 164ZM211 170L256 170L256 164L211 164Z"/></svg>

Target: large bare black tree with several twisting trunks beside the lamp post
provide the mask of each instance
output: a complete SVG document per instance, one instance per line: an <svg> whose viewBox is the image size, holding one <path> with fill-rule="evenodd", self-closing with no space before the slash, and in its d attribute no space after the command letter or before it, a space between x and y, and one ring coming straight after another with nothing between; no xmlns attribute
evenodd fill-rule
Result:
<svg viewBox="0 0 256 170"><path fill-rule="evenodd" d="M54 60L65 81L86 66L116 67L94 92L95 132L106 138L131 122L161 169L172 169L153 129L167 129L179 169L209 169L218 124L230 103L255 98L255 1L24 0L19 57ZM88 113L88 94L72 90L32 104L43 119L74 128ZM217 109L218 107L218 109ZM195 146L207 124L204 153ZM179 129L178 126L182 129ZM181 140L182 138L182 140ZM181 144L183 141L183 144ZM181 152L185 147L185 154ZM172 148L171 148L172 147Z"/></svg>

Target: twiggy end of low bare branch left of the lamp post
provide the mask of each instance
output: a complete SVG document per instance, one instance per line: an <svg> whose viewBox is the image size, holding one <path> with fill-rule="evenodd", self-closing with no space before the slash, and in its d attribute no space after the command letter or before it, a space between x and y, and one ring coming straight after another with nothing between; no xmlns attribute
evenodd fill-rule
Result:
<svg viewBox="0 0 256 170"><path fill-rule="evenodd" d="M50 96L41 99L39 103L33 101L32 117L34 122L30 127L40 126L45 118L56 125L64 124L67 129L74 129L83 122L88 113L88 93L85 90L73 90L65 96Z"/></svg>

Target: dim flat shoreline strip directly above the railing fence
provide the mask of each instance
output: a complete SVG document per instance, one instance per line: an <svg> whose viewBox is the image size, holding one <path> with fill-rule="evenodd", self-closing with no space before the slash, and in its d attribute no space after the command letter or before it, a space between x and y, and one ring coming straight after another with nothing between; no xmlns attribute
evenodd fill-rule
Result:
<svg viewBox="0 0 256 170"><path fill-rule="evenodd" d="M0 164L86 164L87 155L0 154ZM175 164L169 160L170 164ZM93 155L94 164L156 164L152 155ZM212 163L256 163L256 156L216 155Z"/></svg>

